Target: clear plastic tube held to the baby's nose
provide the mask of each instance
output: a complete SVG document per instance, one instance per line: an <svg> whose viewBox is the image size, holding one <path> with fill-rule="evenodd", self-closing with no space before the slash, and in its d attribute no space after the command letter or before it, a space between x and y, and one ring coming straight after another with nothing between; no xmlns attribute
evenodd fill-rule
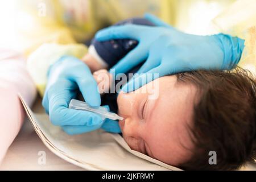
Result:
<svg viewBox="0 0 256 182"><path fill-rule="evenodd" d="M115 113L110 113L108 109L106 109L105 107L102 107L102 106L92 107L92 106L89 106L89 104L87 104L86 102L75 100L75 99L72 99L70 101L68 108L76 109L76 110L86 110L96 114L100 114L102 119L109 118L113 120L123 120L123 118L119 117L119 115Z"/></svg>

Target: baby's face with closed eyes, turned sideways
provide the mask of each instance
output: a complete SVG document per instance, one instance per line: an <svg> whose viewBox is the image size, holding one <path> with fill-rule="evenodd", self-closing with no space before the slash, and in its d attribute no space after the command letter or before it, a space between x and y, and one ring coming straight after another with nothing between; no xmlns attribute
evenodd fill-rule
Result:
<svg viewBox="0 0 256 182"><path fill-rule="evenodd" d="M158 86L152 88L158 89L158 98L150 99L145 89L155 81ZM188 126L192 126L196 88L177 83L175 75L155 81L135 92L119 93L118 114L124 118L119 126L132 150L179 166L192 155Z"/></svg>

